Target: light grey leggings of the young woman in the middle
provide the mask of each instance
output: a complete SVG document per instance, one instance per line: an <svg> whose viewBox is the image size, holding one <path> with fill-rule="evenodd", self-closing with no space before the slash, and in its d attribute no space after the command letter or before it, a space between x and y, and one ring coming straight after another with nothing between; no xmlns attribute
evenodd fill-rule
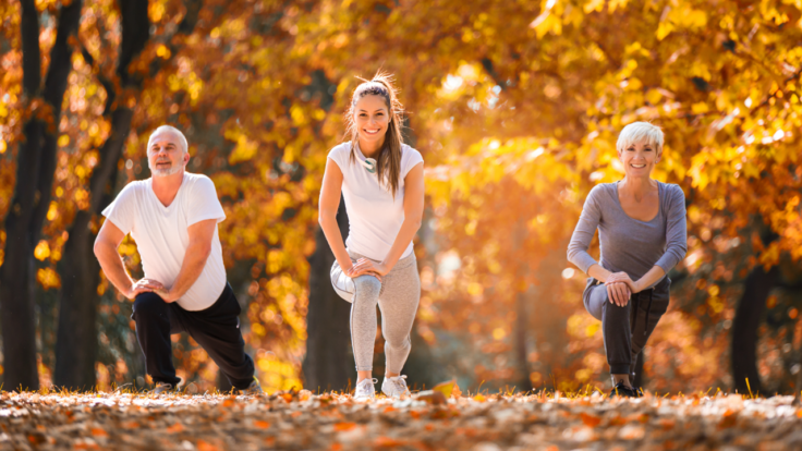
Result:
<svg viewBox="0 0 802 451"><path fill-rule="evenodd" d="M356 261L364 256L349 252ZM381 278L354 278L351 306L351 343L357 371L373 369L373 348L376 340L376 304L381 309L381 334L385 337L387 373L400 374L410 355L410 332L421 301L421 278L415 254L400 259Z"/></svg>

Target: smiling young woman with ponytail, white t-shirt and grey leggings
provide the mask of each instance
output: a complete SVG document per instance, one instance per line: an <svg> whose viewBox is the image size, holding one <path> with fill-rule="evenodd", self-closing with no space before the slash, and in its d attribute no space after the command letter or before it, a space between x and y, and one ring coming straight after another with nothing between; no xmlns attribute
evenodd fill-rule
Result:
<svg viewBox="0 0 802 451"><path fill-rule="evenodd" d="M377 304L387 362L381 391L388 397L409 393L401 369L421 298L412 239L423 217L424 182L423 157L403 144L400 114L388 75L379 73L357 86L348 112L351 141L329 153L320 190L320 227L337 258L332 283L353 302L357 399L374 398L378 382L372 375ZM340 192L349 217L345 243L336 220Z"/></svg>

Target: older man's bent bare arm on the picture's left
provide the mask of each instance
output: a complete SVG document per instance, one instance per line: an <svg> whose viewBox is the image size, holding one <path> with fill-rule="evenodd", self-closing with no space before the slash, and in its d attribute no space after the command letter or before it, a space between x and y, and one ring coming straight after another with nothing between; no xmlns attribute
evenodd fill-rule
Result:
<svg viewBox="0 0 802 451"><path fill-rule="evenodd" d="M161 284L158 281L149 279L134 281L129 276L122 258L117 251L124 237L125 233L107 219L100 227L97 239L95 239L94 252L106 278L109 279L111 284L120 293L133 300L139 293L146 293L161 288Z"/></svg>

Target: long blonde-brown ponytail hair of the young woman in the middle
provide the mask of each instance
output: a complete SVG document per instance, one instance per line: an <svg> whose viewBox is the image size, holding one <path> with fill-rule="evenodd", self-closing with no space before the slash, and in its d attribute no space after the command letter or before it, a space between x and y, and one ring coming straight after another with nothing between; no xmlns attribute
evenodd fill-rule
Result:
<svg viewBox="0 0 802 451"><path fill-rule="evenodd" d="M348 109L345 118L345 122L348 123L348 131L345 133L351 135L350 159L352 163L356 162L354 148L360 136L356 121L354 121L356 102L367 95L381 96L387 106L387 113L390 115L387 135L385 135L385 144L381 146L379 155L376 158L376 174L379 178L379 184L386 183L386 185L389 185L390 193L396 197L401 176L401 145L403 144L401 122L403 119L403 106L398 100L398 90L392 83L392 75L386 72L379 71L374 75L373 80L365 81L360 86L356 86L354 95L351 97L351 107Z"/></svg>

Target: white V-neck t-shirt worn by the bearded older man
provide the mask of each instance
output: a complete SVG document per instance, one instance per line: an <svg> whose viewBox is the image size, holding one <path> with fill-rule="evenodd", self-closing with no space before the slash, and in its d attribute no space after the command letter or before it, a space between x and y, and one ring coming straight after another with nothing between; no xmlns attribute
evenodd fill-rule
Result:
<svg viewBox="0 0 802 451"><path fill-rule="evenodd" d="M206 175L184 172L175 198L165 207L153 190L153 179L129 183L104 216L123 233L131 233L142 257L145 277L172 287L181 271L186 247L187 228L194 223L226 219L215 183ZM211 253L203 272L177 302L186 310L203 310L214 304L226 288L222 247L215 228Z"/></svg>

